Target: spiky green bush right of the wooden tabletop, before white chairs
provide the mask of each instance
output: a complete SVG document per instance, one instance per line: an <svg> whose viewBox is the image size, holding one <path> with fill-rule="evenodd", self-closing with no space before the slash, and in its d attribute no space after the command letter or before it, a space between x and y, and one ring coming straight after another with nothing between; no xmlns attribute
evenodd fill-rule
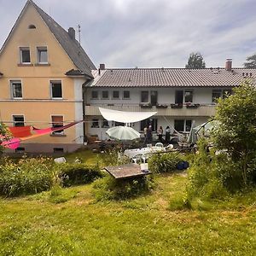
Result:
<svg viewBox="0 0 256 256"><path fill-rule="evenodd" d="M148 160L148 169L151 172L173 172L177 170L177 165L182 161L182 155L177 152L165 154L152 154Z"/></svg>

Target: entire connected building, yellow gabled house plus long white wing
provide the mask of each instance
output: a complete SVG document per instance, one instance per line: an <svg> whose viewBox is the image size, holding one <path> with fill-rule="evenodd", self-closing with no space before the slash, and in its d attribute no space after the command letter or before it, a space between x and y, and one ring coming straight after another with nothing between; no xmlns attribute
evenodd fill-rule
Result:
<svg viewBox="0 0 256 256"><path fill-rule="evenodd" d="M255 82L255 69L115 68L95 65L75 39L32 0L28 0L0 50L0 121L37 128L83 123L21 143L26 152L71 152L85 137L108 139L99 107L157 112L132 124L143 133L152 125L188 134L215 114L218 97L229 96L244 80Z"/></svg>

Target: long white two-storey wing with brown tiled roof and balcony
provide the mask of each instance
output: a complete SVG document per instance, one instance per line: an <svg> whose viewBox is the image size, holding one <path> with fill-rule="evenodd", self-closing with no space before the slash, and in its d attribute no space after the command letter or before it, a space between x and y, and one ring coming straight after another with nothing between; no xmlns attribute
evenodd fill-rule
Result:
<svg viewBox="0 0 256 256"><path fill-rule="evenodd" d="M133 124L135 130L152 125L154 134L160 126L188 134L193 122L201 125L215 114L219 97L256 76L253 69L232 68L129 68L103 69L93 73L95 79L86 85L84 113L89 135L107 139L106 131L116 124L102 119L98 108L121 111L156 111L148 120Z"/></svg>

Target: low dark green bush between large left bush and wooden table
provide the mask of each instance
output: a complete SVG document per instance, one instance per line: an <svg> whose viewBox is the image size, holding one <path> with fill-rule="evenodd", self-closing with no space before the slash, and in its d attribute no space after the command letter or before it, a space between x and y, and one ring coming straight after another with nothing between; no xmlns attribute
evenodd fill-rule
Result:
<svg viewBox="0 0 256 256"><path fill-rule="evenodd" d="M93 182L102 177L99 166L86 166L84 164L61 164L57 166L61 183L64 187Z"/></svg>

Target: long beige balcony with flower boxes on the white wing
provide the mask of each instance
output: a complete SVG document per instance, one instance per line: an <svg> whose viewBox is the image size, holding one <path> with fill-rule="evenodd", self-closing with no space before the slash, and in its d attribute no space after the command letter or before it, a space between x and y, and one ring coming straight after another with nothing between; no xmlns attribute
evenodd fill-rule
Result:
<svg viewBox="0 0 256 256"><path fill-rule="evenodd" d="M125 105L118 104L114 106L108 106L107 104L97 104L93 106L85 106L85 115L87 116L96 116L101 115L99 108L108 108L119 111L130 111L130 112L157 112L155 116L201 116L201 117L210 117L215 114L214 105L200 105L196 108L187 108L185 105L180 106L179 108L172 108L171 105L165 106L165 108L158 108L152 106L152 108L143 108L138 104Z"/></svg>

